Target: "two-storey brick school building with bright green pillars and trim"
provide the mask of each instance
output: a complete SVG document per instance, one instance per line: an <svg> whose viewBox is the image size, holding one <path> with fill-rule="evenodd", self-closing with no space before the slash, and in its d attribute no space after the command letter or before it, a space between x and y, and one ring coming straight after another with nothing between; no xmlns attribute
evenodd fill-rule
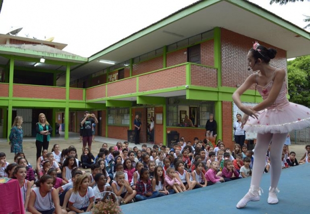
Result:
<svg viewBox="0 0 310 214"><path fill-rule="evenodd" d="M89 110L97 135L124 140L140 115L142 142L154 116L158 144L173 130L203 138L213 113L217 138L232 147L231 97L252 73L247 52L255 41L277 49L277 67L310 54L309 32L245 0L198 1L88 58L63 51L66 44L1 34L0 135L8 136L16 115L25 135L34 135L45 113L51 124L64 124L67 139ZM252 87L242 101L261 96ZM182 126L185 115L195 127Z"/></svg>

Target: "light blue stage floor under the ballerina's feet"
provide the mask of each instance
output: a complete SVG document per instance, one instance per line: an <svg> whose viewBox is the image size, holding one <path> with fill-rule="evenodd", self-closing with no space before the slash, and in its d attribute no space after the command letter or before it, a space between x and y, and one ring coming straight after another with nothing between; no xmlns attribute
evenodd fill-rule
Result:
<svg viewBox="0 0 310 214"><path fill-rule="evenodd" d="M270 174L264 174L261 188L264 193L260 201L249 202L237 209L236 204L249 189L250 178L238 179L191 191L122 205L124 214L181 214L181 213L310 213L309 187L310 164L284 169L278 188L279 203L267 203Z"/></svg>

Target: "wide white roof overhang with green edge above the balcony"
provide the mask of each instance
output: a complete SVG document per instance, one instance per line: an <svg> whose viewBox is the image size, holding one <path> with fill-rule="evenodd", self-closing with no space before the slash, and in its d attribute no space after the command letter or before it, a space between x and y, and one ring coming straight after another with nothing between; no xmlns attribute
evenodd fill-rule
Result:
<svg viewBox="0 0 310 214"><path fill-rule="evenodd" d="M100 63L99 59L123 62L215 27L284 49L287 58L310 54L310 34L298 26L245 0L209 0L196 2L95 53L88 63L78 66L72 73L75 78L81 78L111 66ZM164 31L182 35L182 38Z"/></svg>

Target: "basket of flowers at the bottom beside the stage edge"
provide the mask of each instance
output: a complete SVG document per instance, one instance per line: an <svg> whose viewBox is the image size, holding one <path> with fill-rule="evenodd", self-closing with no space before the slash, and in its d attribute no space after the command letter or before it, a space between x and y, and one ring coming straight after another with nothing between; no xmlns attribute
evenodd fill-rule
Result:
<svg viewBox="0 0 310 214"><path fill-rule="evenodd" d="M121 207L112 199L99 201L92 208L92 214L123 214Z"/></svg>

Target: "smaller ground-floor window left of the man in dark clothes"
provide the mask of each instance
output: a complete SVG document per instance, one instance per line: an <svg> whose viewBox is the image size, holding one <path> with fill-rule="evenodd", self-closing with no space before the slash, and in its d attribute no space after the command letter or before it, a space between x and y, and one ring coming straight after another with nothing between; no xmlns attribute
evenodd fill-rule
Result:
<svg viewBox="0 0 310 214"><path fill-rule="evenodd" d="M109 125L129 125L129 108L112 108L108 109Z"/></svg>

